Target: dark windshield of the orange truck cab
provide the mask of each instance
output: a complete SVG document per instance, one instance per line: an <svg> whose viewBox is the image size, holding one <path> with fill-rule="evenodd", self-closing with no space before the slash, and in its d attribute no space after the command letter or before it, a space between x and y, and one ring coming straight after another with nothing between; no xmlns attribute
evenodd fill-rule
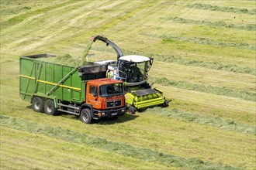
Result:
<svg viewBox="0 0 256 170"><path fill-rule="evenodd" d="M100 97L123 95L123 83L111 83L99 87Z"/></svg>

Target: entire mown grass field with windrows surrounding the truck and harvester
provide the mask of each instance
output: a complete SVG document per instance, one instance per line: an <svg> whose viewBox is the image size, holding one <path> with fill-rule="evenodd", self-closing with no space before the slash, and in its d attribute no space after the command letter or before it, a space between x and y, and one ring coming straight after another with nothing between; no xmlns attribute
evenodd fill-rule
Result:
<svg viewBox="0 0 256 170"><path fill-rule="evenodd" d="M1 169L256 169L256 2L7 1L1 14ZM81 59L91 36L153 56L171 100L117 121L33 112L19 56ZM116 59L95 42L89 53Z"/></svg>

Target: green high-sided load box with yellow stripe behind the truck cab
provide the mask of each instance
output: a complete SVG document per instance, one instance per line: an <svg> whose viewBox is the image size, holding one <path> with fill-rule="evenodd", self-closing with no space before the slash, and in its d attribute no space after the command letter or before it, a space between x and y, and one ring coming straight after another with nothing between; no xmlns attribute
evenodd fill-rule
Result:
<svg viewBox="0 0 256 170"><path fill-rule="evenodd" d="M46 97L54 100L66 100L81 104L85 101L85 86L78 76L78 68L48 63L38 58L50 55L21 56L19 94L23 100L31 101L33 96Z"/></svg>

